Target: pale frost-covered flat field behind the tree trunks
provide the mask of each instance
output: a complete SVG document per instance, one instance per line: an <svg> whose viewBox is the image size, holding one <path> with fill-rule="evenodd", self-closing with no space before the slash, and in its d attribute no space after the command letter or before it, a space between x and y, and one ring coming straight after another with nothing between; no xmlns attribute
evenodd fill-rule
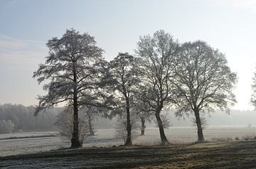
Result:
<svg viewBox="0 0 256 169"><path fill-rule="evenodd" d="M191 143L196 141L197 131L194 127L170 127L165 130L166 136L171 143ZM23 153L38 153L70 146L69 141L55 136L55 132L29 132L0 134L0 156L10 156ZM33 138L29 138L33 136ZM42 136L36 138L35 136ZM204 130L206 141L225 141L235 137L254 138L256 128L246 126L208 126ZM14 138L21 137L21 138ZM28 137L28 138L24 138ZM6 139L4 139L6 138ZM10 139L11 138L11 139ZM134 145L151 146L160 143L159 130L148 128L145 136L138 136L133 141ZM115 137L114 129L97 129L96 136L87 138L85 147L109 147L122 145L122 139Z"/></svg>

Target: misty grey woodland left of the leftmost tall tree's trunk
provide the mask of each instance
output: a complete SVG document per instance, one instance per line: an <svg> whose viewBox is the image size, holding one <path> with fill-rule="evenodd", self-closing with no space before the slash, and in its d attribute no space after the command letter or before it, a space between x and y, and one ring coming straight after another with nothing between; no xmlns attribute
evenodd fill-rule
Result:
<svg viewBox="0 0 256 169"><path fill-rule="evenodd" d="M34 116L35 107L21 104L0 104L0 133L18 131L53 131L56 115L62 108L48 109Z"/></svg>

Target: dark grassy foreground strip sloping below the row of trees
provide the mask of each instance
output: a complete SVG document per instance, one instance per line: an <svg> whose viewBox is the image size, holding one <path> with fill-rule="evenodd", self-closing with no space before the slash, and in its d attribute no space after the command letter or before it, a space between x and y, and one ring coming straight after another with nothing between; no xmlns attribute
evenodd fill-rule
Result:
<svg viewBox="0 0 256 169"><path fill-rule="evenodd" d="M256 168L256 141L64 149L1 157L0 168Z"/></svg>

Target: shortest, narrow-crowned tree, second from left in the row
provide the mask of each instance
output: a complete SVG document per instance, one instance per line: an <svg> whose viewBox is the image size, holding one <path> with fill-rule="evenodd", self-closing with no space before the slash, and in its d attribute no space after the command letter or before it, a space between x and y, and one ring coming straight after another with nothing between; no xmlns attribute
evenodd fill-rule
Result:
<svg viewBox="0 0 256 169"><path fill-rule="evenodd" d="M114 60L109 63L110 80L108 92L113 94L113 103L115 109L123 112L125 109L127 116L127 141L125 146L132 146L132 124L130 120L130 109L132 107L132 98L134 91L139 84L139 69L137 67L137 58L129 53L119 53Z"/></svg>

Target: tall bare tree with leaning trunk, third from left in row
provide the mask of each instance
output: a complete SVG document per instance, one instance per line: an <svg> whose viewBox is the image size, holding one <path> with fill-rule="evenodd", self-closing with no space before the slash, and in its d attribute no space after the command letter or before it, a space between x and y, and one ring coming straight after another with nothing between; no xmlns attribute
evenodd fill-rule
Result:
<svg viewBox="0 0 256 169"><path fill-rule="evenodd" d="M169 143L161 120L161 110L169 106L173 99L173 89L169 78L173 70L173 60L177 53L178 42L163 30L154 36L141 37L137 43L136 53L142 59L144 79L142 101L149 105L148 111L154 111L158 122L161 143Z"/></svg>

